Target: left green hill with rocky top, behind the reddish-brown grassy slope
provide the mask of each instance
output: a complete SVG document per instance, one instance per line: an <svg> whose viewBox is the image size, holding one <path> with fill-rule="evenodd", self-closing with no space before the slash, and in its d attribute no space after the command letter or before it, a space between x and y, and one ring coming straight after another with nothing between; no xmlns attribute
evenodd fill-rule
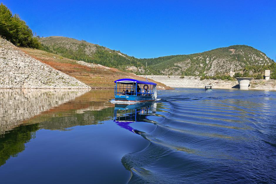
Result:
<svg viewBox="0 0 276 184"><path fill-rule="evenodd" d="M88 43L84 40L76 40L62 36L51 36L39 39L42 50L61 55L73 60L82 60L87 63L100 64L107 67L115 67L127 71L130 66L136 67L136 74L144 73L145 66L139 59L128 56L117 50ZM129 71L132 71L129 69ZM152 71L155 73L154 71Z"/></svg>

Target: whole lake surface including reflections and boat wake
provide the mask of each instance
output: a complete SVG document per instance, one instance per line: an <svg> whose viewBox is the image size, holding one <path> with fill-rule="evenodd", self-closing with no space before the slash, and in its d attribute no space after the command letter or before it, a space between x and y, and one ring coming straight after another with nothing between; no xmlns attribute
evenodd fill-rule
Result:
<svg viewBox="0 0 276 184"><path fill-rule="evenodd" d="M1 183L275 183L276 92L1 90Z"/></svg>

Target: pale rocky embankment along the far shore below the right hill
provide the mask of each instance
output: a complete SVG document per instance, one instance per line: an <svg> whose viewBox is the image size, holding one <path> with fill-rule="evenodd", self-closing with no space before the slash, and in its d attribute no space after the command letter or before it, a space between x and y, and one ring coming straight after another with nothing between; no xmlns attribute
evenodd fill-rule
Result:
<svg viewBox="0 0 276 184"><path fill-rule="evenodd" d="M140 75L146 77L145 75ZM204 88L206 85L212 85L217 89L238 88L237 80L213 80L204 79L200 80L199 76L185 76L180 78L179 75L148 75L149 79L161 82L169 87L191 87L191 88ZM249 89L256 90L276 90L276 80L251 80Z"/></svg>

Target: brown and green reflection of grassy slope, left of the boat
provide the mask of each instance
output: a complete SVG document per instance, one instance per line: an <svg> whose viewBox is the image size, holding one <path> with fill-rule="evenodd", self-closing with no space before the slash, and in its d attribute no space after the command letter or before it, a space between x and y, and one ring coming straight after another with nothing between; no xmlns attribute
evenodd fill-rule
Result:
<svg viewBox="0 0 276 184"><path fill-rule="evenodd" d="M112 98L112 94L111 90L91 90L24 123L40 123L41 128L52 130L97 124L98 121L110 119L112 116L114 105L107 100Z"/></svg>

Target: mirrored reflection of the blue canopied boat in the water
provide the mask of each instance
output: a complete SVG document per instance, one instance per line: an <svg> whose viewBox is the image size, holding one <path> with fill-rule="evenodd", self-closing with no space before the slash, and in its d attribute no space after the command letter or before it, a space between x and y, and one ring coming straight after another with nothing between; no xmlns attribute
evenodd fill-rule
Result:
<svg viewBox="0 0 276 184"><path fill-rule="evenodd" d="M133 129L130 124L133 122L145 121L147 119L146 116L155 112L156 103L115 104L113 121L120 127L134 134L142 134L144 132Z"/></svg>

